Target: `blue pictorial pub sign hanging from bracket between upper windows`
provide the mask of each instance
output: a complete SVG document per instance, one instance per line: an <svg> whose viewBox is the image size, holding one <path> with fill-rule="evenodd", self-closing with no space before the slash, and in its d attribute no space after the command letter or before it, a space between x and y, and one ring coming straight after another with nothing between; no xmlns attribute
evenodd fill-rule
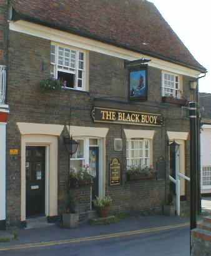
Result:
<svg viewBox="0 0 211 256"><path fill-rule="evenodd" d="M129 69L129 100L147 100L148 75L147 66Z"/></svg>

